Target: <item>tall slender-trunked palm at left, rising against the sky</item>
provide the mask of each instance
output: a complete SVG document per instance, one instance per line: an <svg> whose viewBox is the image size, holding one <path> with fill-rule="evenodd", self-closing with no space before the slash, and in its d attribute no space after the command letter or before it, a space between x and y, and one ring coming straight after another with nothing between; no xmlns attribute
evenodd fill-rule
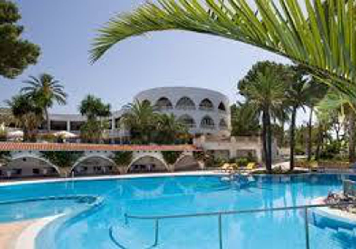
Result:
<svg viewBox="0 0 356 249"><path fill-rule="evenodd" d="M27 86L21 89L21 92L26 96L32 97L40 107L43 108L43 112L46 116L47 131L51 129L51 121L49 120L48 109L51 108L54 102L59 105L65 105L67 94L63 91L63 85L59 84L59 81L54 79L52 75L41 74L38 78L30 76L30 79L23 81Z"/></svg>

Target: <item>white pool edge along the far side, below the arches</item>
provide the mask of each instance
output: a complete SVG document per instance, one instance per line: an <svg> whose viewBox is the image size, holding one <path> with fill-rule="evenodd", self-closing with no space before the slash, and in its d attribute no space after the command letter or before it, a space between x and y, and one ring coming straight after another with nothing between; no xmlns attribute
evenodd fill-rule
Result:
<svg viewBox="0 0 356 249"><path fill-rule="evenodd" d="M58 179L41 179L41 180L23 180L13 182L0 182L1 186L16 186L24 184L49 183L49 182L70 182L70 181L92 181L92 180L115 180L115 179L133 179L133 178L153 178L164 176L212 176L224 175L226 173L218 170L209 171L187 171L187 172L172 172L172 173L143 173L143 174L127 174L127 175L109 175L109 176L85 176L74 178L58 178Z"/></svg>

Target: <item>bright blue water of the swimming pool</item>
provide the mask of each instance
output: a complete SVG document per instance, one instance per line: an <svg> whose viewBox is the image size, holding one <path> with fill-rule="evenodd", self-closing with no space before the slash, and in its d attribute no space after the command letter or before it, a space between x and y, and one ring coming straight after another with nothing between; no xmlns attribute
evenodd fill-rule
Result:
<svg viewBox="0 0 356 249"><path fill-rule="evenodd" d="M38 249L143 249L155 240L155 221L126 221L125 214L164 216L305 205L330 191L341 191L345 178L356 180L340 175L255 176L240 184L220 176L167 176L0 187L0 222L65 213L43 229L36 240ZM4 203L8 204L2 208ZM223 216L223 248L305 248L303 215L293 210ZM314 219L309 224L311 249L356 249L356 227ZM155 248L219 248L216 216L161 220L158 229Z"/></svg>

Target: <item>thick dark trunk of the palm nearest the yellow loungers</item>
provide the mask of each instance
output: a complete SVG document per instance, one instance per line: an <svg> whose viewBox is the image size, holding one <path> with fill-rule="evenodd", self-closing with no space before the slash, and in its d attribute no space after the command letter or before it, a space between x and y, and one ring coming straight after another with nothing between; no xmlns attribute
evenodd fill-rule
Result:
<svg viewBox="0 0 356 249"><path fill-rule="evenodd" d="M268 173L272 172L272 132L271 132L271 117L269 110L263 111L262 114L262 140L263 152L265 153L265 165Z"/></svg>

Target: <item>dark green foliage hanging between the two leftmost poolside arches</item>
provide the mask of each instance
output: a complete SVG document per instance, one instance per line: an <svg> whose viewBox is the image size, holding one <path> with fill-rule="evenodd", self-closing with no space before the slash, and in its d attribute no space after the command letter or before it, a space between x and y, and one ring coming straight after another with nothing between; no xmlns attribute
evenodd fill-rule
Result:
<svg viewBox="0 0 356 249"><path fill-rule="evenodd" d="M52 164L60 168L70 168L84 153L74 151L45 151L41 152L41 154Z"/></svg>

